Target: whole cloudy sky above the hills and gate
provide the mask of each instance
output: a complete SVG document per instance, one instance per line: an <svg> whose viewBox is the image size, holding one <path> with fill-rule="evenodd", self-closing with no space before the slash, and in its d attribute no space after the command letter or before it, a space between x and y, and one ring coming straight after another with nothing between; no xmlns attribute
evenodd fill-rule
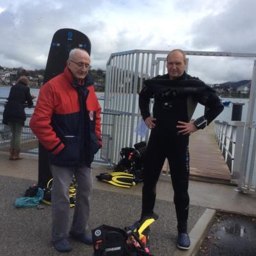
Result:
<svg viewBox="0 0 256 256"><path fill-rule="evenodd" d="M61 28L90 38L93 68L133 49L256 54L255 10L255 0L0 0L0 65L45 68ZM189 57L189 74L206 83L251 79L252 66L253 58Z"/></svg>

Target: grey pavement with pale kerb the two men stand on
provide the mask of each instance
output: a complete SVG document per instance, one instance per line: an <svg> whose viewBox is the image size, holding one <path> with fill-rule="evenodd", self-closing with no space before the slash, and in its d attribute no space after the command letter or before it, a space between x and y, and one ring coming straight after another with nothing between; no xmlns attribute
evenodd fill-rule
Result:
<svg viewBox="0 0 256 256"><path fill-rule="evenodd" d="M29 186L36 183L38 158L22 154L24 159L9 161L8 154L0 152L2 212L1 253L3 255L58 255L52 249L51 207L45 209L15 209L13 202L23 196ZM115 227L131 225L140 216L141 187L117 188L99 182L95 176L111 172L108 166L93 164L93 196L90 228L103 223ZM159 220L152 225L151 252L154 255L196 255L207 230L214 219L215 210L256 216L256 196L237 193L234 186L206 182L189 182L189 235L191 249L183 252L176 248L176 218L170 177L159 180L157 185L156 212ZM72 212L72 210L70 211ZM71 214L72 216L72 214ZM92 246L72 241L70 255L92 255Z"/></svg>

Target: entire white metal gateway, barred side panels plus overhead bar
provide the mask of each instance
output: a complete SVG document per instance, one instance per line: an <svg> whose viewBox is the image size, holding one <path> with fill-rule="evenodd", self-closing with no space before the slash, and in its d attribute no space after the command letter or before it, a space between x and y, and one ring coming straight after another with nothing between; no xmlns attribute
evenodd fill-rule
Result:
<svg viewBox="0 0 256 256"><path fill-rule="evenodd" d="M112 122L111 118L113 118L113 116L104 115L103 117L103 123L113 123L113 130L111 130L113 134L110 156L111 163L118 163L118 160L120 159L119 152L122 147L133 147L134 143L148 140L150 131L147 131L145 138L142 138L134 132L134 128L141 120L140 110L138 108L138 93L140 92L145 79L166 73L166 55L168 52L169 51L134 50L116 52L109 57L106 66L104 111L118 114L118 116L115 117L115 121L112 120ZM256 57L256 54L252 53L184 52L186 56ZM254 78L251 87L252 99L250 99L250 102L253 104L251 103L248 113L253 112L253 109L255 109L255 71L253 74ZM150 108L152 110L152 104L150 105ZM254 115L256 119L256 114ZM256 175L256 132L255 124L252 124L252 122L250 123L249 121L247 123L244 132L243 160L240 168L243 175L240 175L239 188L243 191L255 191L255 183L253 183L253 180L255 180ZM108 126L103 125L103 134L111 134L111 131ZM252 147L248 145L250 141L253 141L251 142Z"/></svg>

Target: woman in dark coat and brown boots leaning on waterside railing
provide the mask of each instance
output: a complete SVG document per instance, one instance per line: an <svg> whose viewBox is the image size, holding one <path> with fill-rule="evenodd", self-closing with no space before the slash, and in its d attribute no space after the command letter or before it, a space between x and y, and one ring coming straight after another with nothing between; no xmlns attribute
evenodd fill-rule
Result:
<svg viewBox="0 0 256 256"><path fill-rule="evenodd" d="M20 140L22 126L26 120L25 104L28 108L33 106L33 99L35 95L29 92L29 80L26 76L21 76L17 83L12 86L10 90L8 102L4 106L3 124L9 125L12 132L10 141L10 160L22 159L20 154Z"/></svg>

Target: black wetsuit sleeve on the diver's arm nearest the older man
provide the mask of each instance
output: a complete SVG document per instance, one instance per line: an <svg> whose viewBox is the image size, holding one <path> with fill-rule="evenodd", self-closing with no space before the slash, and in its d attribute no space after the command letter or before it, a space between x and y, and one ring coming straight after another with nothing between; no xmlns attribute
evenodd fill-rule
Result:
<svg viewBox="0 0 256 256"><path fill-rule="evenodd" d="M150 98L153 97L153 92L150 89L150 86L145 86L140 92L139 95L139 108L140 108L140 113L145 120L150 116L150 111L149 111L149 103L150 103Z"/></svg>

